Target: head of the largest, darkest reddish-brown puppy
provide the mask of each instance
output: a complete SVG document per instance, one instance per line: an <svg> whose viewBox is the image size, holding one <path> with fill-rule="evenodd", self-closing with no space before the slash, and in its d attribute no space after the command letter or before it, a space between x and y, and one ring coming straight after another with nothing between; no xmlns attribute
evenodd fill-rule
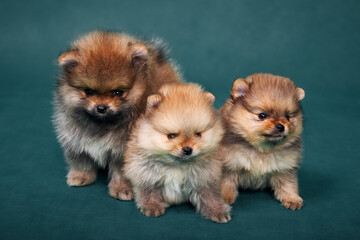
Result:
<svg viewBox="0 0 360 240"><path fill-rule="evenodd" d="M78 40L59 57L62 103L95 121L111 121L139 103L145 86L145 46L118 34L95 33Z"/></svg>

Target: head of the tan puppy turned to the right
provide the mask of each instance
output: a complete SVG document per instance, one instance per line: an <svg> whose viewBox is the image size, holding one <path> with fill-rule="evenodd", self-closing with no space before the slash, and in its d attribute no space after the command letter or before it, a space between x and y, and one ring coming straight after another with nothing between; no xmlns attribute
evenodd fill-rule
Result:
<svg viewBox="0 0 360 240"><path fill-rule="evenodd" d="M262 149L284 146L300 136L300 101L305 93L290 79L254 74L238 79L232 89L230 125L250 144Z"/></svg>

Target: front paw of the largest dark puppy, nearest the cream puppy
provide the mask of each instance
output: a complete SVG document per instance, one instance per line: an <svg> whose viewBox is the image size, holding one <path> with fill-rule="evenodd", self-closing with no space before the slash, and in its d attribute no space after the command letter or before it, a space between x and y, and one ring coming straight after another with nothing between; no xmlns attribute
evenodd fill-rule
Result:
<svg viewBox="0 0 360 240"><path fill-rule="evenodd" d="M109 194L113 198L123 201L130 201L134 199L134 192L131 183L127 180L111 180L109 183Z"/></svg>

